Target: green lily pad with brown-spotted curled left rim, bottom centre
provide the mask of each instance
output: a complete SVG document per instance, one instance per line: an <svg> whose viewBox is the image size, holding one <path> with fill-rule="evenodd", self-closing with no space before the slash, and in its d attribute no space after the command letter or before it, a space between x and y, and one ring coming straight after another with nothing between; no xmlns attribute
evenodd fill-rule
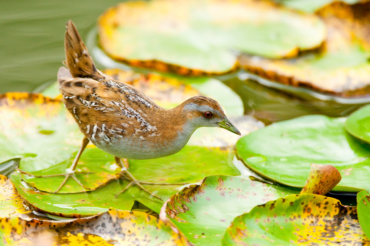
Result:
<svg viewBox="0 0 370 246"><path fill-rule="evenodd" d="M160 218L168 216L195 245L221 245L222 235L235 216L297 193L299 190L238 177L208 176L200 185L173 195L161 209Z"/></svg>

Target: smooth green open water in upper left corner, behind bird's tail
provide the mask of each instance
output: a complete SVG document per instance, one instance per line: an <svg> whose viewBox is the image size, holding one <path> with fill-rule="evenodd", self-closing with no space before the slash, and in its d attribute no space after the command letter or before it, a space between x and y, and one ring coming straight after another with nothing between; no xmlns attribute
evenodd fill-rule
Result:
<svg viewBox="0 0 370 246"><path fill-rule="evenodd" d="M64 59L65 23L74 21L83 38L98 16L122 0L1 1L0 93L33 91L56 80Z"/></svg>

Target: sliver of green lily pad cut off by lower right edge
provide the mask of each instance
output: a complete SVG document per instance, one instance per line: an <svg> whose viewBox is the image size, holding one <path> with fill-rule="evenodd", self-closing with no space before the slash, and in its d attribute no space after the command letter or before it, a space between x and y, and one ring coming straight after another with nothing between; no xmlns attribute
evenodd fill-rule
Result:
<svg viewBox="0 0 370 246"><path fill-rule="evenodd" d="M367 237L370 236L370 187L357 193L357 214L361 228Z"/></svg>

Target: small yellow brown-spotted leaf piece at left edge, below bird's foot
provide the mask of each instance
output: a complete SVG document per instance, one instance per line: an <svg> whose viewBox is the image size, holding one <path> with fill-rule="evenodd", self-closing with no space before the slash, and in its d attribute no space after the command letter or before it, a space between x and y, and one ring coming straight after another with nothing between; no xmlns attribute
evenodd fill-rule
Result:
<svg viewBox="0 0 370 246"><path fill-rule="evenodd" d="M28 218L27 210L23 205L23 199L6 176L0 175L0 218L18 216Z"/></svg>

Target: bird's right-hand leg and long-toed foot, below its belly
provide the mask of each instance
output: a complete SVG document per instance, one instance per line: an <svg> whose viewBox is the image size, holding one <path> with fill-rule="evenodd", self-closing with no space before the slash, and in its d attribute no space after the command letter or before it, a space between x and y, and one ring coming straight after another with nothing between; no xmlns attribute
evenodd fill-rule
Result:
<svg viewBox="0 0 370 246"><path fill-rule="evenodd" d="M117 157L115 156L114 157L116 163L118 166L121 167L121 173L127 178L130 180L130 183L122 190L120 191L119 193L117 193L115 195L115 197L117 198L117 195L121 194L122 192L126 191L130 186L132 186L133 184L136 184L141 190L145 191L146 193L149 193L150 195L154 196L154 197L157 197L159 199L161 199L160 197L158 197L157 195L154 195L153 193L151 193L150 191L148 191L147 189L145 189L141 184L151 184L151 185L184 185L184 184L187 184L187 183L153 183L153 182L145 182L145 181L139 181L137 180L134 176L132 176L132 174L127 170L127 167L128 167L128 162L126 159L124 159L125 162L122 162L122 159L120 157ZM161 199L162 200L162 199Z"/></svg>

